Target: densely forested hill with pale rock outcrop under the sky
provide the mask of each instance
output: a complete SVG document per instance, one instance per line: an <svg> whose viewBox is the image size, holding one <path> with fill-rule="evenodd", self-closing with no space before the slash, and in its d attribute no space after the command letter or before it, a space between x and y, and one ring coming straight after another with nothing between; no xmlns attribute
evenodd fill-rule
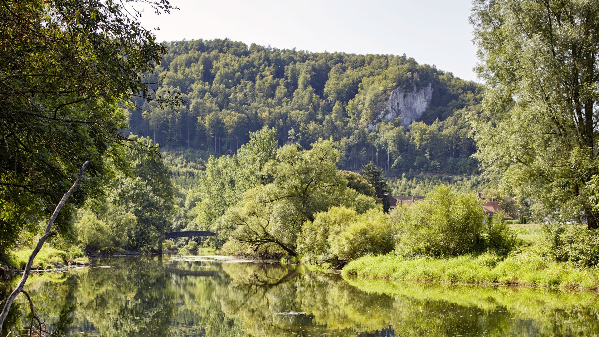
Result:
<svg viewBox="0 0 599 337"><path fill-rule="evenodd" d="M280 145L339 141L341 169L370 160L397 176L477 169L465 115L477 109L482 87L434 65L406 55L310 53L226 39L166 45L153 80L164 78L159 94L181 92L186 104L178 113L132 112L129 125L167 148L232 154L249 131L268 126Z"/></svg>

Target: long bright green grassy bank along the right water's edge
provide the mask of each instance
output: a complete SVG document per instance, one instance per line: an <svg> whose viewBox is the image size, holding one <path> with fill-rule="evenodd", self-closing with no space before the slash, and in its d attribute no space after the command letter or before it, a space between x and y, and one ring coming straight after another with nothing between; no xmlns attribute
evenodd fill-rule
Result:
<svg viewBox="0 0 599 337"><path fill-rule="evenodd" d="M351 261L341 270L341 274L460 284L514 284L585 289L596 288L599 285L599 268L577 269L566 263L546 261L533 249L510 254L507 258L490 253L452 258L365 256Z"/></svg>

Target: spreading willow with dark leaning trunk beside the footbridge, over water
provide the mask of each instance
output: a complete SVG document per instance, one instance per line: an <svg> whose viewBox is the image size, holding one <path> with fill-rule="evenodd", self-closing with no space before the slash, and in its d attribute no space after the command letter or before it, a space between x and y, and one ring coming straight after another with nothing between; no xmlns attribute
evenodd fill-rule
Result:
<svg viewBox="0 0 599 337"><path fill-rule="evenodd" d="M254 249L277 245L297 255L297 236L304 221L314 214L341 204L359 211L373 207L373 199L348 188L337 170L337 144L320 140L310 150L286 145L277 150L276 160L264 166L267 185L249 189L237 206L222 218L221 235Z"/></svg>

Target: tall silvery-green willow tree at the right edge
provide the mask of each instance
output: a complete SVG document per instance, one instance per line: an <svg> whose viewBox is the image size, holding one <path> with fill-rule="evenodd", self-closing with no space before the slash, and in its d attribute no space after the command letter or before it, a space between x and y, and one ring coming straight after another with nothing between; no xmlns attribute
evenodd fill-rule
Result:
<svg viewBox="0 0 599 337"><path fill-rule="evenodd" d="M470 21L486 83L476 157L546 216L597 228L599 1L475 0Z"/></svg>

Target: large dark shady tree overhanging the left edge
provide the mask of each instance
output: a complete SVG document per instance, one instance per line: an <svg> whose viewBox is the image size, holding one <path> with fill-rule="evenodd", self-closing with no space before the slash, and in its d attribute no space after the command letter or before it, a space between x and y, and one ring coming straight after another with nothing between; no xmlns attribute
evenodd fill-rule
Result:
<svg viewBox="0 0 599 337"><path fill-rule="evenodd" d="M173 8L140 2L156 13ZM130 13L104 0L0 4L0 253L52 213L82 161L90 161L88 174L53 228L67 233L72 205L101 193L111 175L105 158L135 142L122 135L123 104L180 103L155 95L147 76L166 49L140 26L141 12Z"/></svg>

